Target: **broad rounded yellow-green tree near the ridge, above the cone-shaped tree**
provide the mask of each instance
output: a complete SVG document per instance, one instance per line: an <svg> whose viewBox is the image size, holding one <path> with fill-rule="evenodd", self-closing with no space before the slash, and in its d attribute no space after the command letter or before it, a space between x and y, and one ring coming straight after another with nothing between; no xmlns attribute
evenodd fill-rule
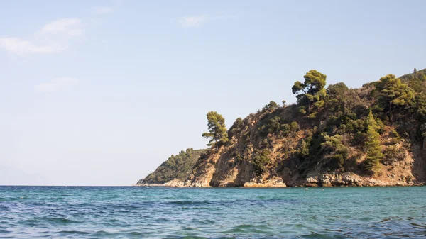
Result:
<svg viewBox="0 0 426 239"><path fill-rule="evenodd" d="M389 120L392 122L392 107L406 106L414 99L415 92L407 84L401 82L394 74L388 74L386 77L376 82L376 89L379 92L378 99L385 108L388 108Z"/></svg>

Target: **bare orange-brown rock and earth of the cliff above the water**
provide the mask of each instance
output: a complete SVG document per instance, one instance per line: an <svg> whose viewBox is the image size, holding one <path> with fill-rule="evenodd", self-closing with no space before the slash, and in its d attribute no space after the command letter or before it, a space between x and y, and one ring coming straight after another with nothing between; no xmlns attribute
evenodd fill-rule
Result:
<svg viewBox="0 0 426 239"><path fill-rule="evenodd" d="M291 115L294 106L278 109L275 113ZM350 135L344 135L344 145L349 148L349 156L344 162L344 169L332 169L324 155L317 155L314 162L300 159L297 149L310 135L309 129L300 129L285 138L267 135L258 137L257 122L264 114L249 116L244 120L240 133L231 138L229 145L216 150L209 150L205 157L198 160L189 177L190 187L332 187L332 186L390 186L409 185L425 180L423 162L426 145L418 142L407 143L408 139L395 138L389 132L394 127L386 127L382 133L383 152L396 149L393 158L381 162L376 174L364 172L362 167L366 154L360 146L351 143ZM307 126L307 125L305 125ZM264 140L267 146L262 146ZM426 141L425 141L426 142ZM263 148L265 147L265 148ZM256 174L254 158L263 148L268 149L268 162L265 172ZM422 150L420 150L422 148ZM392 154L392 153L389 153ZM388 157L392 157L388 155ZM425 161L426 162L426 161ZM308 165L305 166L304 164ZM416 167L416 168L415 168ZM417 170L418 169L418 170Z"/></svg>

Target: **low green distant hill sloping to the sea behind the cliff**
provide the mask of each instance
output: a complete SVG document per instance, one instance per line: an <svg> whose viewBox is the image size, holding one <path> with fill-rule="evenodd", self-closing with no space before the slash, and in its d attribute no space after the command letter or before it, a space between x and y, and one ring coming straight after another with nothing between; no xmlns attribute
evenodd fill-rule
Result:
<svg viewBox="0 0 426 239"><path fill-rule="evenodd" d="M178 155L172 155L163 162L154 172L148 174L145 179L138 181L137 185L141 184L164 184L172 179L186 179L192 170L192 167L197 162L202 153L207 150L193 150L187 148L185 151L180 151Z"/></svg>

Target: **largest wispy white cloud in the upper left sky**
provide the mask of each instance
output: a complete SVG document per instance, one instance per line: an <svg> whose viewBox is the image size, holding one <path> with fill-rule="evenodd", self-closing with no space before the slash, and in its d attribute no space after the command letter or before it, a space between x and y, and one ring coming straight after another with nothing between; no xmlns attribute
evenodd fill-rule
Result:
<svg viewBox="0 0 426 239"><path fill-rule="evenodd" d="M62 52L70 41L83 34L78 18L62 18L37 30L31 39L0 37L0 48L18 55Z"/></svg>

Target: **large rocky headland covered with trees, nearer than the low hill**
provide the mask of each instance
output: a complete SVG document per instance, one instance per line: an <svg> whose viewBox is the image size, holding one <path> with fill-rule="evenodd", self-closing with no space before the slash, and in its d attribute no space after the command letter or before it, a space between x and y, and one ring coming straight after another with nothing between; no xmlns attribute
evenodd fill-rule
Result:
<svg viewBox="0 0 426 239"><path fill-rule="evenodd" d="M279 106L271 101L257 113L238 118L226 133L222 116L209 112L210 133L203 135L212 138L212 147L198 158L187 179L180 177L168 186L331 187L424 182L425 73L415 71L400 79L388 74L359 89L349 89L343 82L325 88L327 77L311 70L304 82L293 86L297 104ZM220 134L214 132L214 124Z"/></svg>

